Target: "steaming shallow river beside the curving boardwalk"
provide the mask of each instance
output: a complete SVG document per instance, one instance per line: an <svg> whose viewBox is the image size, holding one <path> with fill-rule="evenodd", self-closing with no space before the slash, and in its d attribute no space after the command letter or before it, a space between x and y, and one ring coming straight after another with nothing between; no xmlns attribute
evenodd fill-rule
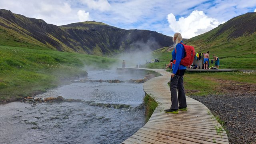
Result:
<svg viewBox="0 0 256 144"><path fill-rule="evenodd" d="M143 74L115 70L89 71L90 80L142 79ZM0 105L1 144L119 144L144 125L142 84L86 82L48 90L36 97L82 99L97 103L128 104L131 108L90 106L85 102L22 102Z"/></svg>

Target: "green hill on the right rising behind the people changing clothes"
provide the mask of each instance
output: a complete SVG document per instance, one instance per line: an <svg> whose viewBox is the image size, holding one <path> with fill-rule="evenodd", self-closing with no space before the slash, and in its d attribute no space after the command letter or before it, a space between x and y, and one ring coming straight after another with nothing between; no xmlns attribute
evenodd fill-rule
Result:
<svg viewBox="0 0 256 144"><path fill-rule="evenodd" d="M220 68L256 69L256 12L246 13L217 28L195 36L184 43L194 46L196 52L210 51L220 58ZM155 50L156 57L164 56L165 63L171 58L164 50ZM152 67L152 64L149 65ZM156 66L162 68L163 66Z"/></svg>

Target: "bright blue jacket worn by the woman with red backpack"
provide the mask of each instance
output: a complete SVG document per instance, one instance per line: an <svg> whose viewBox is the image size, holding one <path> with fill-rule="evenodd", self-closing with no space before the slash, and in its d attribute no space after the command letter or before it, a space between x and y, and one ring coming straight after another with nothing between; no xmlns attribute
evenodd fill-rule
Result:
<svg viewBox="0 0 256 144"><path fill-rule="evenodd" d="M182 41L180 41L180 42L182 42ZM176 49L176 53L175 53L175 49ZM186 66L180 65L180 61L184 57L185 57L184 46L180 43L176 44L176 47L172 51L172 60L176 60L176 63L172 64L172 73L173 74L176 74L176 72L178 70L186 69Z"/></svg>

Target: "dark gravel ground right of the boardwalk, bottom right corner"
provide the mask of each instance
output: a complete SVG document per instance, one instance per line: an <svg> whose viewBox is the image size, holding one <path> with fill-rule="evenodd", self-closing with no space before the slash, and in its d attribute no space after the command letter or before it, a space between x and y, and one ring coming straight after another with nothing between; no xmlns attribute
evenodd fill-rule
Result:
<svg viewBox="0 0 256 144"><path fill-rule="evenodd" d="M190 97L225 122L230 144L256 144L256 87L235 87L225 95Z"/></svg>

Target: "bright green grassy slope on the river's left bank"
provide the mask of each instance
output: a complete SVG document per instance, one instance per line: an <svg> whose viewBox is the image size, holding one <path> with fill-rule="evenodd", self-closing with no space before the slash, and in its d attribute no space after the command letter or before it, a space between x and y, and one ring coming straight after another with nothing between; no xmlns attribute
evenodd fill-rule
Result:
<svg viewBox="0 0 256 144"><path fill-rule="evenodd" d="M115 62L86 54L0 46L0 102L45 92L85 76L88 67L107 69Z"/></svg>

